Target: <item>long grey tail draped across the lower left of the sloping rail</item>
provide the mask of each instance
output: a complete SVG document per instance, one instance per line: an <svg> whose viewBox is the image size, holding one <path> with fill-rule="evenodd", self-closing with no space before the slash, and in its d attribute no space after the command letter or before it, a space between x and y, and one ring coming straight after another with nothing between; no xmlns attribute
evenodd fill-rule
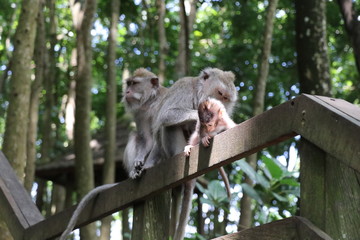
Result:
<svg viewBox="0 0 360 240"><path fill-rule="evenodd" d="M59 240L65 240L66 237L71 233L71 231L74 229L75 224L82 212L82 210L88 205L88 203L90 202L90 200L92 200L98 193L109 189L113 186L115 186L117 183L111 183L111 184L105 184L99 187L94 188L93 190L91 190L90 192L88 192L83 199L81 199L80 203L78 204L78 206L76 207L73 215L70 218L70 221L65 229L65 231L61 234L61 237L59 238Z"/></svg>

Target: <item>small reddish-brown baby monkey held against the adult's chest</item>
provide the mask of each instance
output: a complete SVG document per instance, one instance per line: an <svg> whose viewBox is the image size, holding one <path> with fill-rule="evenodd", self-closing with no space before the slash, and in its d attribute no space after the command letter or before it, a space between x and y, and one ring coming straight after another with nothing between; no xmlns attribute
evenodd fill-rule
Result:
<svg viewBox="0 0 360 240"><path fill-rule="evenodd" d="M210 139L215 135L236 126L230 118L224 105L215 98L208 98L201 102L198 107L199 120L196 128L185 146L184 153L190 155L191 148L202 142L204 147L210 145Z"/></svg>

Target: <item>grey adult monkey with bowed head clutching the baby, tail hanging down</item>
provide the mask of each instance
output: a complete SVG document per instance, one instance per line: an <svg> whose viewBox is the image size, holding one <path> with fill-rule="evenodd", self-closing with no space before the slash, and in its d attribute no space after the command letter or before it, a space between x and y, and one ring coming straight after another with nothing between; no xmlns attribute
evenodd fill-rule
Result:
<svg viewBox="0 0 360 240"><path fill-rule="evenodd" d="M158 105L158 115L153 119L154 144L143 169L184 150L198 120L198 106L207 98L221 101L231 115L237 100L234 80L232 72L206 68L198 77L185 77L175 82ZM185 184L182 211L174 240L184 237L194 186L195 180Z"/></svg>

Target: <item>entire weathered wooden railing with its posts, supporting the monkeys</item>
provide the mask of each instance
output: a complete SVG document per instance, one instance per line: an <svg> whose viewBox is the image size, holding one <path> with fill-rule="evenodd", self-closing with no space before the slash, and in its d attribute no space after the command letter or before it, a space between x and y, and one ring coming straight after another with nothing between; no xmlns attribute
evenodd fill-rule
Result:
<svg viewBox="0 0 360 240"><path fill-rule="evenodd" d="M194 147L190 158L179 154L147 170L139 180L126 180L100 193L76 226L296 135L302 136L301 147L308 150L301 156L300 213L326 234L303 218L286 219L283 224L292 224L291 234L296 236L310 236L305 231L311 231L315 234L311 236L317 236L311 239L331 239L327 234L334 239L360 239L360 108L343 100L311 95L301 95L217 135L209 148ZM75 206L43 219L5 157L1 154L0 158L0 214L6 216L14 239L42 240L60 235ZM263 228L267 229L265 225ZM238 234L250 236L247 233ZM290 239L279 236L267 239Z"/></svg>

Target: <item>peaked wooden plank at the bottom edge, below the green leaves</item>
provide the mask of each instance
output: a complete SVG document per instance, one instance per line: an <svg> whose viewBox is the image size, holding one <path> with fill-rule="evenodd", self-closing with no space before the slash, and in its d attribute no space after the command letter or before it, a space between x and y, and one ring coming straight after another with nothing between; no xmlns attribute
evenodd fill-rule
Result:
<svg viewBox="0 0 360 240"><path fill-rule="evenodd" d="M214 238L213 240L331 240L326 233L315 227L310 221L301 217L264 224L238 233Z"/></svg>

